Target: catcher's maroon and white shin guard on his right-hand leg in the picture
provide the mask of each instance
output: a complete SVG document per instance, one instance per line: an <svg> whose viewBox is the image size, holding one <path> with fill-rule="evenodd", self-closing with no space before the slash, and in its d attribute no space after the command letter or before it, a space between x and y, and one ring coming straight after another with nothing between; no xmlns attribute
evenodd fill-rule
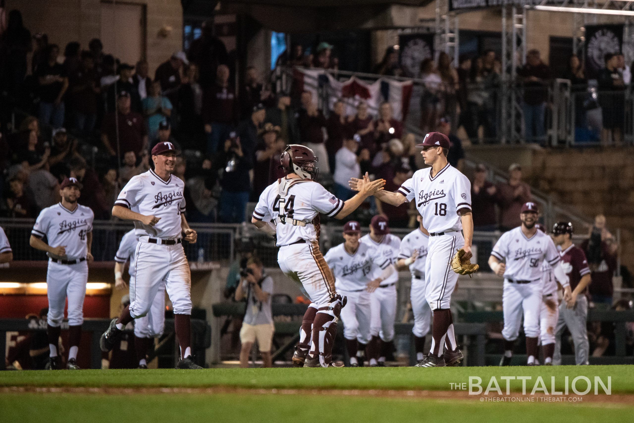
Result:
<svg viewBox="0 0 634 423"><path fill-rule="evenodd" d="M346 305L346 297L335 294L327 306L318 308L313 322L313 339L310 358L319 357L321 367L328 367L332 362L332 347L337 335L337 321L341 308Z"/></svg>

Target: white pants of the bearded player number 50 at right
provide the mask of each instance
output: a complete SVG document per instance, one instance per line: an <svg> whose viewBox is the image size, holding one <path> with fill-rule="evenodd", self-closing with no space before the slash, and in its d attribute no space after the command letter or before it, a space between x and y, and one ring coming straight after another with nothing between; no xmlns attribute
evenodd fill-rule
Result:
<svg viewBox="0 0 634 423"><path fill-rule="evenodd" d="M540 336L541 282L516 284L504 281L502 294L504 309L504 329L502 336L507 341L515 341L519 335L519 325L524 313L524 334L529 338Z"/></svg>

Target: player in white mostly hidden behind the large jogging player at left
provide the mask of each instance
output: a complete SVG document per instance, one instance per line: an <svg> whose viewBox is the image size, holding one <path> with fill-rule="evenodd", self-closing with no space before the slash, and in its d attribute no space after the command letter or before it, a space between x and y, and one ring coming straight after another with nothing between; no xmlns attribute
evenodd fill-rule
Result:
<svg viewBox="0 0 634 423"><path fill-rule="evenodd" d="M134 285L134 262L136 260L136 246L139 239L136 236L136 229L127 232L121 239L119 249L115 254L115 288L126 289L126 281L123 280L124 265L129 260L128 274L130 275L130 285ZM132 295L133 293L131 293ZM165 284L161 284L157 291L150 311L147 315L134 320L134 351L139 360L139 369L147 369L147 354L150 344L154 338L163 334L165 327Z"/></svg>

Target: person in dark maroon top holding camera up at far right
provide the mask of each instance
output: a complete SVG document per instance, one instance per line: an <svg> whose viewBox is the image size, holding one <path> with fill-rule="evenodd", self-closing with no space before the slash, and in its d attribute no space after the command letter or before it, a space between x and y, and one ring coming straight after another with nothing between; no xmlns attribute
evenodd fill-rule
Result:
<svg viewBox="0 0 634 423"><path fill-rule="evenodd" d="M590 230L590 237L581 243L581 249L588 258L590 267L590 297L593 303L612 305L612 277L616 270L618 244L614 236L605 228L605 216L597 215Z"/></svg>

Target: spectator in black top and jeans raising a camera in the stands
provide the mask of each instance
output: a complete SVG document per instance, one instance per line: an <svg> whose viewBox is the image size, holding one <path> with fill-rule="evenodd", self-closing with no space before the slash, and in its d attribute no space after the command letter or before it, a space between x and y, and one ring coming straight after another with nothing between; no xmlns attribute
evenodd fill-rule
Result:
<svg viewBox="0 0 634 423"><path fill-rule="evenodd" d="M224 146L216 153L214 173L219 175L220 194L218 220L227 224L244 222L251 191L249 170L253 168L253 151L245 149L236 132L231 132Z"/></svg>

